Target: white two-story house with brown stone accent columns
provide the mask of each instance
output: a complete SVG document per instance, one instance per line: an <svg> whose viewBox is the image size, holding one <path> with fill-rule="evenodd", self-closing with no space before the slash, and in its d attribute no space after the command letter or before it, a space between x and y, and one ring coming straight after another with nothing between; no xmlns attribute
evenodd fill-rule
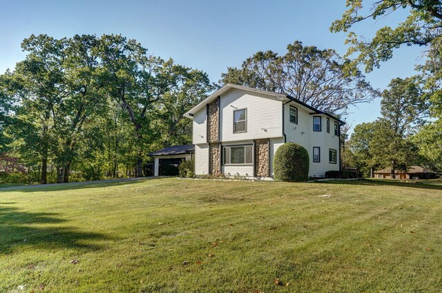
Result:
<svg viewBox="0 0 442 293"><path fill-rule="evenodd" d="M193 119L197 175L273 177L273 156L285 142L309 152L309 176L340 170L344 122L287 94L227 84L184 116Z"/></svg>

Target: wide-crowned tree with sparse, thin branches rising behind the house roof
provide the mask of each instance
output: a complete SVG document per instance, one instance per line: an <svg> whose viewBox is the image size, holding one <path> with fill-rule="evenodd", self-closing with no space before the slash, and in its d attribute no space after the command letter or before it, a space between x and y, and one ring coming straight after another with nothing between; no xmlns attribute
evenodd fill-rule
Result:
<svg viewBox="0 0 442 293"><path fill-rule="evenodd" d="M253 54L241 68L227 68L220 82L284 92L334 114L345 114L349 105L371 101L377 94L334 50L302 46L300 41L289 44L282 56L270 50Z"/></svg>

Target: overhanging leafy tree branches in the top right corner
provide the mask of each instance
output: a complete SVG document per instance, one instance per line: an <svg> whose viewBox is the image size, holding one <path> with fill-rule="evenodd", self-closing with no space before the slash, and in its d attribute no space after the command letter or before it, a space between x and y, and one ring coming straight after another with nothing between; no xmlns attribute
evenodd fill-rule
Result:
<svg viewBox="0 0 442 293"><path fill-rule="evenodd" d="M369 6L368 11L363 5ZM352 65L363 63L365 71L378 68L383 61L393 57L401 46L440 46L442 34L442 5L439 0L347 0L347 10L340 19L332 23L332 32L347 32L345 43L350 47L345 57L356 58ZM407 10L406 19L392 28L379 29L372 39L356 32L349 32L356 23L367 19L378 20L398 10Z"/></svg>

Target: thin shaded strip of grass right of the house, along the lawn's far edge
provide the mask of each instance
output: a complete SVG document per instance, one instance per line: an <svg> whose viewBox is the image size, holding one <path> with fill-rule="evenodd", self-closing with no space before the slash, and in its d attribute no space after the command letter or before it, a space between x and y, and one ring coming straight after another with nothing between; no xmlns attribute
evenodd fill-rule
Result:
<svg viewBox="0 0 442 293"><path fill-rule="evenodd" d="M323 183L332 183L340 185L366 185L366 186L398 186L405 188L421 188L427 190L442 190L442 185L432 185L431 181L416 181L419 183L410 183L403 181L392 180L376 180L376 179L361 179L349 181L323 181ZM436 181L438 182L438 181Z"/></svg>

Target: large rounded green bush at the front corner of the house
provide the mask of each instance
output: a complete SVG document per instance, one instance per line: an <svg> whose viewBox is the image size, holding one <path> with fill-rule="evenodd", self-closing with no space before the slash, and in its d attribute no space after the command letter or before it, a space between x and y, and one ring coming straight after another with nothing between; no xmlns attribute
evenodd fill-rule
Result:
<svg viewBox="0 0 442 293"><path fill-rule="evenodd" d="M302 182L309 179L309 153L297 143L284 143L273 160L276 180Z"/></svg>

